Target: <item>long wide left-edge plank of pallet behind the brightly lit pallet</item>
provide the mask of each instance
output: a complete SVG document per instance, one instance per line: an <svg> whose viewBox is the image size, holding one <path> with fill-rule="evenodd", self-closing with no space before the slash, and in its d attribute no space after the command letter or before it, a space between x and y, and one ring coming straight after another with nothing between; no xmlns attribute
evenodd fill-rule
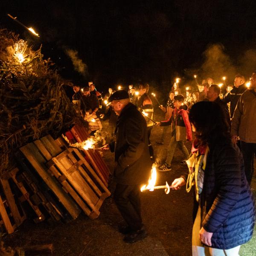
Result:
<svg viewBox="0 0 256 256"><path fill-rule="evenodd" d="M44 158L39 153L38 148L33 143L29 143L28 145L21 147L20 151L29 160L44 182L47 183L49 188L55 193L70 215L74 219L77 218L80 213L79 208L72 201L69 195L63 191L55 178L49 175L47 167L44 165Z"/></svg>

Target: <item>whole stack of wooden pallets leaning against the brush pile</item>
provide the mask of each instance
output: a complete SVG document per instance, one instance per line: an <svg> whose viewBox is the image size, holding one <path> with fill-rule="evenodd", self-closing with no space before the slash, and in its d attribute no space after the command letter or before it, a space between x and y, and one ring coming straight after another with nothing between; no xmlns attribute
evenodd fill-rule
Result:
<svg viewBox="0 0 256 256"><path fill-rule="evenodd" d="M81 136L84 139L86 134L80 129L76 140ZM111 195L109 170L98 151L79 151L62 138L47 135L21 147L16 159L18 168L0 180L0 227L8 233L28 215L35 222L48 217L69 221L81 211L97 218L104 199Z"/></svg>

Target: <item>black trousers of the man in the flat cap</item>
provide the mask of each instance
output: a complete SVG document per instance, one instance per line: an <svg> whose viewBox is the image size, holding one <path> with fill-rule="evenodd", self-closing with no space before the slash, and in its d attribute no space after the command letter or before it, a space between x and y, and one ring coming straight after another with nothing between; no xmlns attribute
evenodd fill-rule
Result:
<svg viewBox="0 0 256 256"><path fill-rule="evenodd" d="M140 185L117 183L113 196L122 217L134 231L140 230L143 225L140 215L140 193Z"/></svg>

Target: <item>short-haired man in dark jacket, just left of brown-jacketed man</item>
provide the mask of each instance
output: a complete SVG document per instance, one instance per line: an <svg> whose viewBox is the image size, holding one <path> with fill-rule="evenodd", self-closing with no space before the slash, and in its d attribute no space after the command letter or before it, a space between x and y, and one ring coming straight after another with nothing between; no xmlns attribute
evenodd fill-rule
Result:
<svg viewBox="0 0 256 256"><path fill-rule="evenodd" d="M245 85L245 79L244 76L241 76L240 74L235 76L234 80L234 86L233 89L230 91L230 93L227 93L224 96L223 101L226 103L230 102L230 116L233 117L236 104L239 101L239 98L244 93L244 91L247 90L247 87Z"/></svg>

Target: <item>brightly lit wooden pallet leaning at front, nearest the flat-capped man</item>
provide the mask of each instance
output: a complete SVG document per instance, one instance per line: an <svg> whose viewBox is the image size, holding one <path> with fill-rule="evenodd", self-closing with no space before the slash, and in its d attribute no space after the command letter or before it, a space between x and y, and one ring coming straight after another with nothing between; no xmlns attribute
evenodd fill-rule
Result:
<svg viewBox="0 0 256 256"><path fill-rule="evenodd" d="M47 163L49 170L90 217L99 216L99 208L110 196L105 184L76 148L67 148Z"/></svg>

